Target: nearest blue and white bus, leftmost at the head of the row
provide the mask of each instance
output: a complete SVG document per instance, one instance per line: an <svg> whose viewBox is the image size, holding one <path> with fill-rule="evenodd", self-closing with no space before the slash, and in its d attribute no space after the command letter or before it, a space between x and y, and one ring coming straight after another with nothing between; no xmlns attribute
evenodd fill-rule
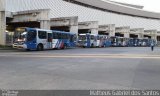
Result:
<svg viewBox="0 0 160 96"><path fill-rule="evenodd" d="M26 50L64 49L76 46L76 34L38 28L17 28L13 48Z"/></svg>

